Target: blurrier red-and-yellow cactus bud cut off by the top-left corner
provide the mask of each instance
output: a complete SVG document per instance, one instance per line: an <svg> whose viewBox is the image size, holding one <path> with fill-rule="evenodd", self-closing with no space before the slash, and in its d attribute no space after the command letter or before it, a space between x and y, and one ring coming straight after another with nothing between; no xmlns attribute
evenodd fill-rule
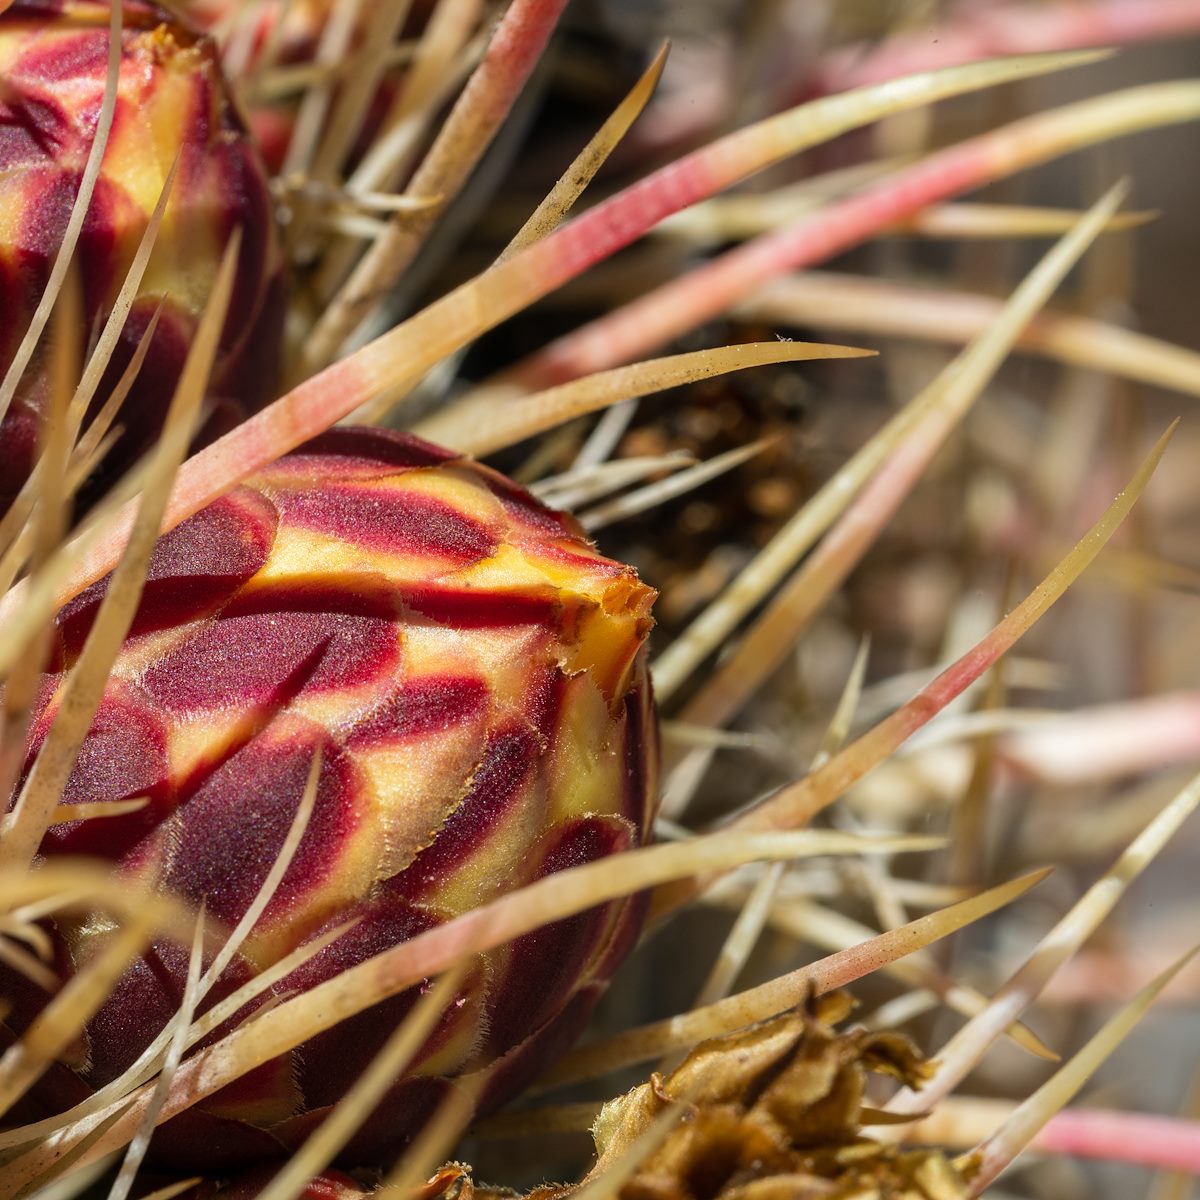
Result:
<svg viewBox="0 0 1200 1200"><path fill-rule="evenodd" d="M112 5L16 0L0 12L0 376L29 326L96 138ZM157 5L125 0L112 130L73 262L79 353L118 292L172 163L179 168L120 342L92 403L112 392L160 302L145 362L118 418L124 436L92 493L154 440L221 253L241 230L238 282L202 439L270 398L283 325L282 254L265 169L234 109L215 44ZM28 478L49 388L43 336L0 424L0 511Z"/></svg>

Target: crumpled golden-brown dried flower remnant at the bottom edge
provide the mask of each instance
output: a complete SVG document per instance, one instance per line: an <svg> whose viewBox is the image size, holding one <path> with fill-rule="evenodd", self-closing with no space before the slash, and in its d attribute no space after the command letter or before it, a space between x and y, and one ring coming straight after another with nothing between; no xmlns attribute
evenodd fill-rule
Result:
<svg viewBox="0 0 1200 1200"><path fill-rule="evenodd" d="M925 1066L901 1034L839 1033L834 1025L851 1008L834 992L702 1043L670 1075L655 1073L604 1106L593 1127L599 1160L582 1184L539 1188L528 1200L582 1198L638 1157L614 1193L620 1200L965 1200L967 1184L941 1152L863 1133L869 1076L917 1086ZM670 1122L673 1108L679 1118L646 1153L655 1122Z"/></svg>

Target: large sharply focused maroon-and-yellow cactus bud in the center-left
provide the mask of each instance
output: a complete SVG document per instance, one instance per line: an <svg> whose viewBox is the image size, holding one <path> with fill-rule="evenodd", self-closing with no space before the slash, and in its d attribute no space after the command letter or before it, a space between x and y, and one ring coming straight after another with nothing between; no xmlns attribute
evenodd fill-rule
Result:
<svg viewBox="0 0 1200 1200"><path fill-rule="evenodd" d="M29 762L103 592L60 614ZM308 989L646 839L653 595L571 517L473 461L398 433L326 433L160 541L62 797L148 804L55 826L42 853L102 856L232 928L319 751L295 857L204 1007L355 920L256 1007ZM478 958L346 1159L395 1158L455 1078L488 1072L484 1108L511 1094L580 1031L640 916L636 899L600 905ZM64 977L112 936L89 922L53 932ZM186 960L166 941L137 959L40 1102L71 1104L120 1075L176 1010ZM16 1033L46 997L12 972L4 983ZM350 1016L169 1121L160 1160L211 1169L294 1148L415 998Z"/></svg>

